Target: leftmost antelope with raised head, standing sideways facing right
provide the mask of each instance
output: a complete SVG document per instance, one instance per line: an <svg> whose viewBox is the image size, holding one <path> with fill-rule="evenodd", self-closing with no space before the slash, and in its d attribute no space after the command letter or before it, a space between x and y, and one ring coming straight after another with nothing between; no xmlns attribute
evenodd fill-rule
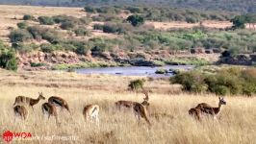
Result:
<svg viewBox="0 0 256 144"><path fill-rule="evenodd" d="M33 98L25 97L25 96L17 96L15 98L15 102L14 102L13 106L19 105L19 104L25 104L25 105L28 105L31 108L33 108L34 105L38 104L40 99L45 100L45 98L42 95L42 92L38 92L38 95L39 95L38 99L33 99ZM33 108L33 110L34 110L34 108Z"/></svg>

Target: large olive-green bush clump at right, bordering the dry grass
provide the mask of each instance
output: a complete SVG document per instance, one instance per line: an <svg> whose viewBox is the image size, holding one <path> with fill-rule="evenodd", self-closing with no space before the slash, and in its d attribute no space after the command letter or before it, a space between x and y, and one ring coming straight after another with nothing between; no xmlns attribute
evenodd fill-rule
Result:
<svg viewBox="0 0 256 144"><path fill-rule="evenodd" d="M183 72L170 78L171 84L182 84L183 89L191 92L213 92L217 95L256 93L255 68L223 68L214 72Z"/></svg>

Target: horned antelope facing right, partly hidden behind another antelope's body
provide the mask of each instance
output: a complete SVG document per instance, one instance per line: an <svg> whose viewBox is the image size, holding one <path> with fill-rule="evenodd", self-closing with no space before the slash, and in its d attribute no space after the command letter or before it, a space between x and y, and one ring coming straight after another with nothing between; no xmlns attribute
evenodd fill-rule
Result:
<svg viewBox="0 0 256 144"><path fill-rule="evenodd" d="M143 105L145 108L148 108L148 106L149 106L149 103L148 103L148 100L149 100L148 92L146 92L143 89L143 94L145 95L145 97L143 98L143 102L141 103L141 105ZM136 103L137 102L121 100L121 101L115 102L115 107L118 108L118 109L121 109L121 108L133 108Z"/></svg>

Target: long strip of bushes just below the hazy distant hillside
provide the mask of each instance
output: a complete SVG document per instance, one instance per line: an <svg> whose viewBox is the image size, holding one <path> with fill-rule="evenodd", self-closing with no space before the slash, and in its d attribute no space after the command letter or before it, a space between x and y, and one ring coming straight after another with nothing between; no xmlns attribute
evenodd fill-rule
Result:
<svg viewBox="0 0 256 144"><path fill-rule="evenodd" d="M116 15L120 12L140 14L145 20L152 21L187 21L196 23L202 20L230 20L235 13L199 11L193 9L176 9L162 7L85 7L86 12Z"/></svg>

